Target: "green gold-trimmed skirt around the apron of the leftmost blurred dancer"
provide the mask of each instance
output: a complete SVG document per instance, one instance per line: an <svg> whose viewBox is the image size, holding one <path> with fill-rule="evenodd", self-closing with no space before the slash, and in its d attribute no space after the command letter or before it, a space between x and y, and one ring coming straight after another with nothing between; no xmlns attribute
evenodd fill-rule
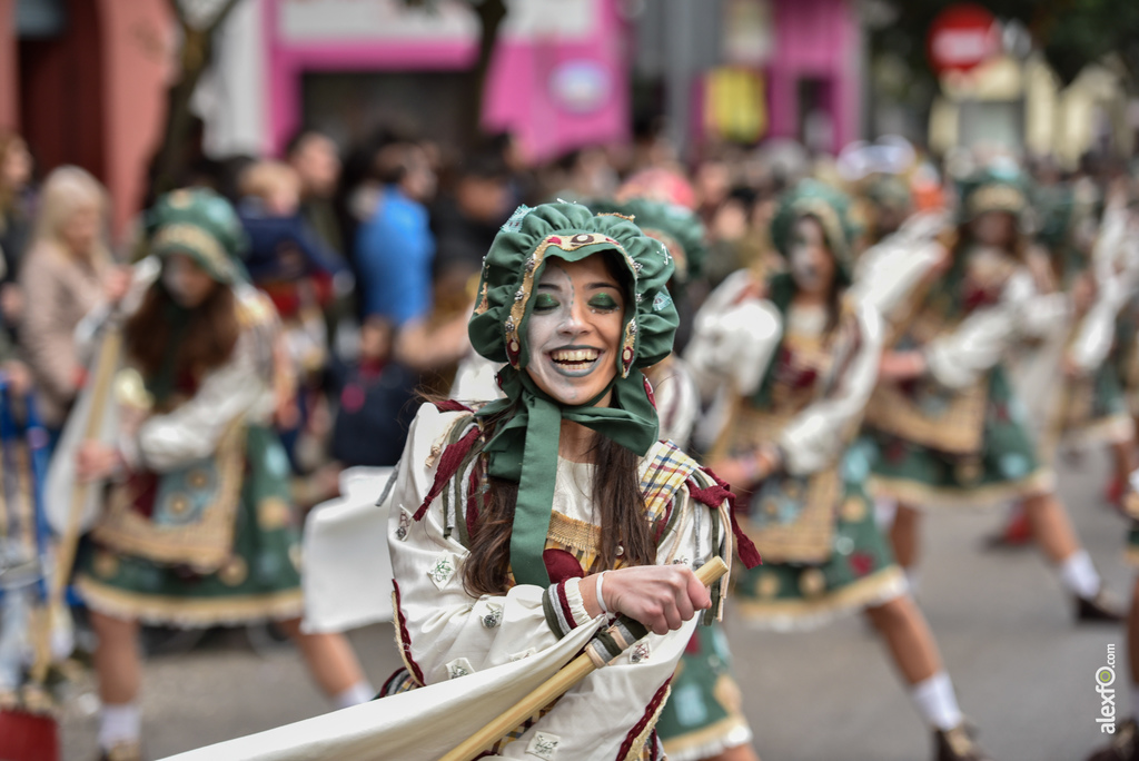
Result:
<svg viewBox="0 0 1139 761"><path fill-rule="evenodd" d="M301 545L289 508L288 459L268 427L246 431L245 467L228 557L206 573L92 540L75 587L93 609L147 623L196 628L302 613Z"/></svg>

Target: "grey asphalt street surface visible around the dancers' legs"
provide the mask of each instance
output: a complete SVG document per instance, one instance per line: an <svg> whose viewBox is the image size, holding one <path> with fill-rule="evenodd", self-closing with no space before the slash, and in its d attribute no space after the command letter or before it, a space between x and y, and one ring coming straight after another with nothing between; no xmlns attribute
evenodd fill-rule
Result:
<svg viewBox="0 0 1139 761"><path fill-rule="evenodd" d="M1076 529L1121 599L1125 522L1104 506L1106 457L1062 463ZM1073 605L1034 549L984 551L1001 512L934 513L923 540L918 599L961 707L995 761L1081 761L1100 744L1095 674L1115 646L1117 702L1128 705L1122 627L1073 623ZM801 635L728 621L736 676L764 761L920 761L931 737L861 616ZM399 665L390 625L352 632L378 687ZM63 721L68 761L95 759L90 678ZM288 646L254 652L244 632L214 633L189 653L155 656L142 688L145 751L162 758L328 710ZM583 727L582 731L589 731Z"/></svg>

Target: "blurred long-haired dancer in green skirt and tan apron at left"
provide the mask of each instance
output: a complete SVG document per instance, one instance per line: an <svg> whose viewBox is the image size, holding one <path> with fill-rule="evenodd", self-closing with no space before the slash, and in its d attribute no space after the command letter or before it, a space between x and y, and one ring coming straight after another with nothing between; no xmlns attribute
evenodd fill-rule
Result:
<svg viewBox="0 0 1139 761"><path fill-rule="evenodd" d="M276 620L338 707L372 696L345 639L300 632L301 548L270 427L278 321L237 260L240 222L212 191L179 190L147 227L151 255L130 293L81 326L105 336L122 321L112 399L91 400L116 404L114 435L57 455L77 477L109 482L75 584L99 638L99 745L115 761L140 758L140 621Z"/></svg>

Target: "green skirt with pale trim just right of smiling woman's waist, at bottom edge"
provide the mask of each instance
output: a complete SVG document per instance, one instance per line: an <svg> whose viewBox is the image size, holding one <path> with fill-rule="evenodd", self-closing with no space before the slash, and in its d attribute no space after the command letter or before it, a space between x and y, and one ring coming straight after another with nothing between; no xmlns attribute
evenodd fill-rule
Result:
<svg viewBox="0 0 1139 761"><path fill-rule="evenodd" d="M697 627L693 632L672 677L672 692L656 733L671 761L712 758L752 740L720 623Z"/></svg>

